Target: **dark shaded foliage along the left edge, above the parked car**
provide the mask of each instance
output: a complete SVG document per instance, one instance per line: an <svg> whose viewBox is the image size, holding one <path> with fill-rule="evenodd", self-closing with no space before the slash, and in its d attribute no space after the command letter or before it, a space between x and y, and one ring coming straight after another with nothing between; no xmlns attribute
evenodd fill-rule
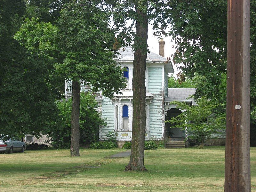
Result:
<svg viewBox="0 0 256 192"><path fill-rule="evenodd" d="M39 137L54 126L56 90L51 86L53 64L13 38L25 5L20 0L0 3L0 132Z"/></svg>

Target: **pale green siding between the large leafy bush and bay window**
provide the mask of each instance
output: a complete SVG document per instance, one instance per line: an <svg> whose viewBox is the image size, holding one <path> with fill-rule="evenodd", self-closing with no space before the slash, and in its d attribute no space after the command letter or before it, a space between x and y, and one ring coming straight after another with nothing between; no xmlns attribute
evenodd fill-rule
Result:
<svg viewBox="0 0 256 192"><path fill-rule="evenodd" d="M114 105L112 104L112 101L108 98L104 98L101 110L102 118L104 118L104 121L107 123L107 125L102 127L100 130L100 136L104 139L108 131L112 131L114 129Z"/></svg>

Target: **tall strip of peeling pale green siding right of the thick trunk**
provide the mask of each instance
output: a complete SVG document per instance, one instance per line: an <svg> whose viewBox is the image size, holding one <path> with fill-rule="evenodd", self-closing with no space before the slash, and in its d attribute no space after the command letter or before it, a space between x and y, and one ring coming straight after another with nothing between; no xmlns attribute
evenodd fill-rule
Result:
<svg viewBox="0 0 256 192"><path fill-rule="evenodd" d="M163 93L162 93L162 67L148 68L148 92L155 98L149 104L149 132L151 139L163 139Z"/></svg>

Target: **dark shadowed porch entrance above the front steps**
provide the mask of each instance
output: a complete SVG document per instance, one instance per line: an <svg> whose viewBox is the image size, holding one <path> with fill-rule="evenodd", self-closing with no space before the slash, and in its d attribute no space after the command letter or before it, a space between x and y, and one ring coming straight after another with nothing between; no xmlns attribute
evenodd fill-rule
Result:
<svg viewBox="0 0 256 192"><path fill-rule="evenodd" d="M181 114L180 109L172 108L167 111L165 121L170 120L172 117L176 117ZM165 123L166 138L185 138L185 131L180 128L172 128L174 124Z"/></svg>

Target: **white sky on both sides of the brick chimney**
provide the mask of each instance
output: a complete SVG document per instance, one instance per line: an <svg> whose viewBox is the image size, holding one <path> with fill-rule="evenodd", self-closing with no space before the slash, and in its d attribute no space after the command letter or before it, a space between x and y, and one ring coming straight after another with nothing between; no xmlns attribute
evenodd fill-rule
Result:
<svg viewBox="0 0 256 192"><path fill-rule="evenodd" d="M171 37L164 37L164 57L170 57L171 59L173 58L173 55L175 53L175 43L172 42ZM173 46L173 48L172 48ZM158 44L158 39L157 37L153 36L153 28L152 26L149 24L148 25L148 48L150 51L159 54L159 44ZM172 61L173 64L173 61ZM177 68L176 66L173 66L174 68L174 76L176 77L177 72Z"/></svg>

